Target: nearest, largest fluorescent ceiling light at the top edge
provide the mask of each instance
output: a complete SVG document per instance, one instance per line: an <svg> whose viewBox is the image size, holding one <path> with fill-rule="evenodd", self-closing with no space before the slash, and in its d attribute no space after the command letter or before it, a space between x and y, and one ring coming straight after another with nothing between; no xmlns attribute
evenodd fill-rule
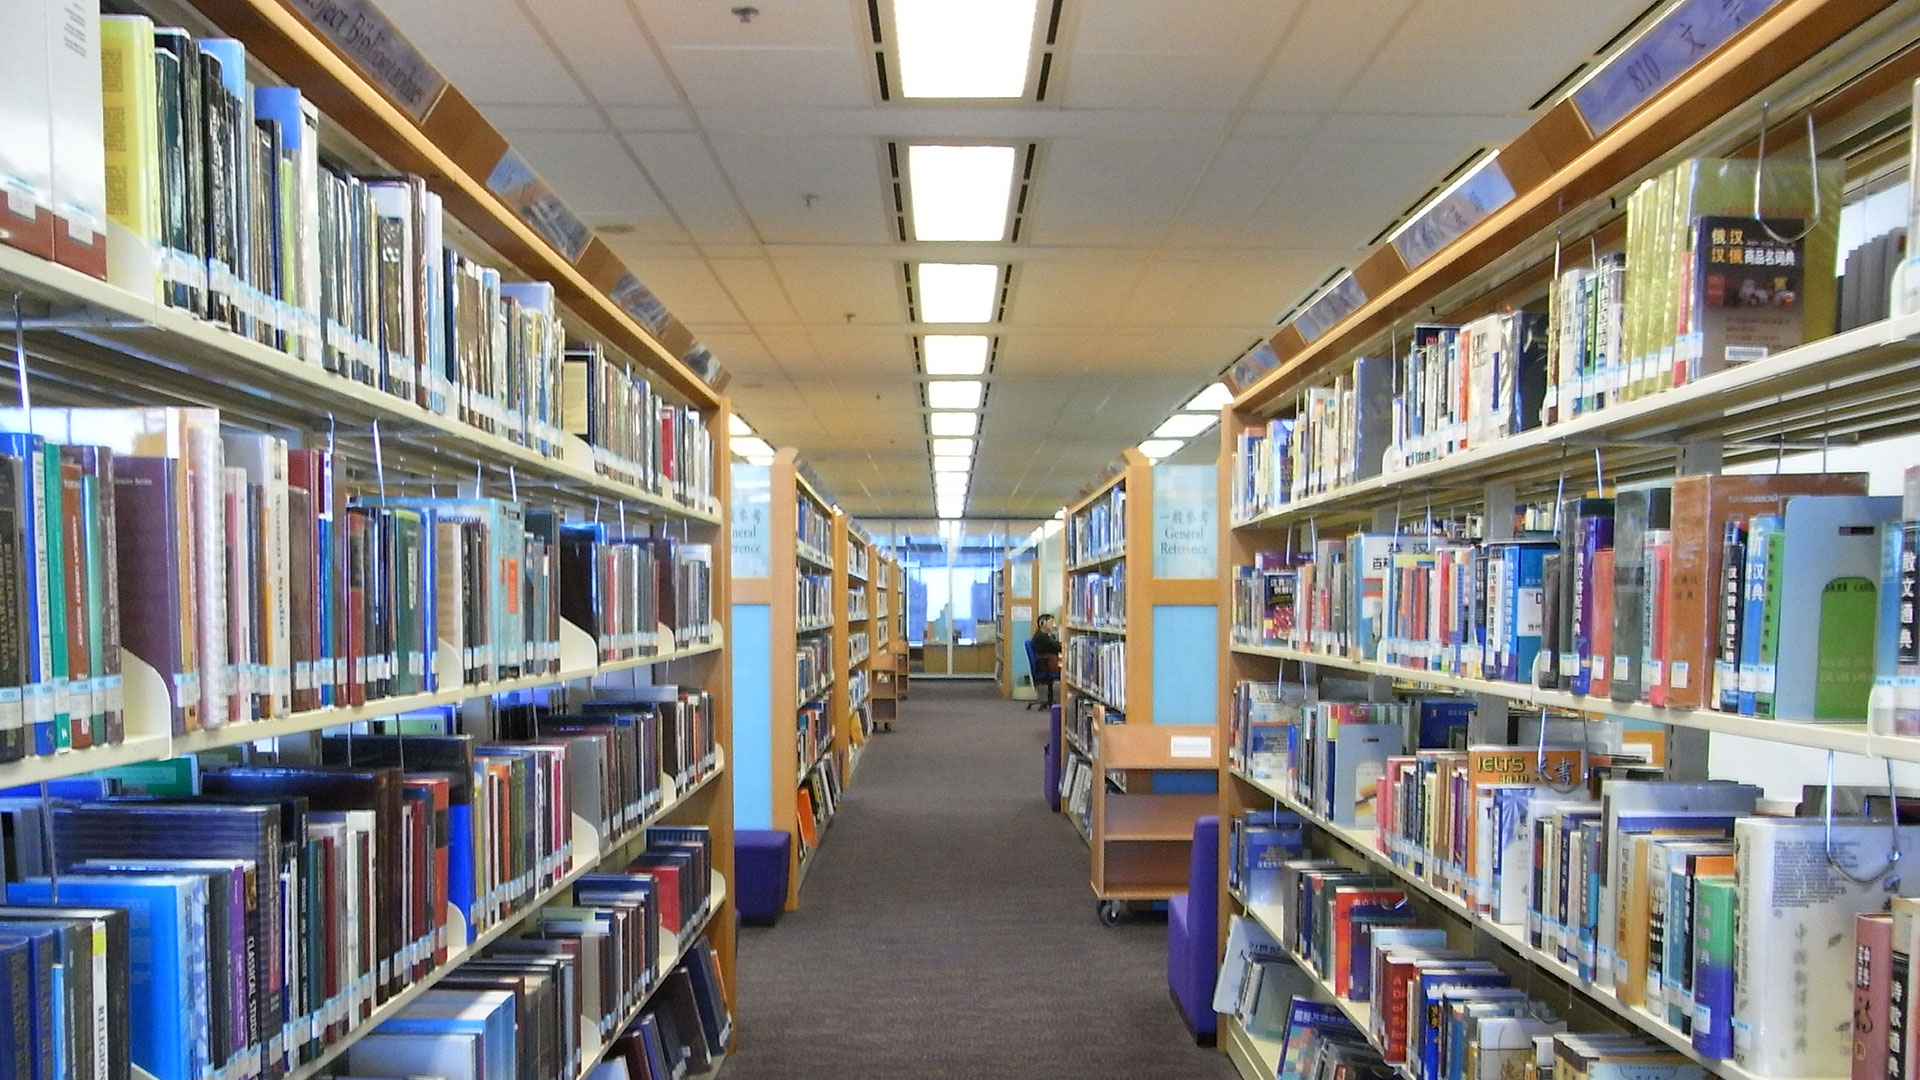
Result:
<svg viewBox="0 0 1920 1080"><path fill-rule="evenodd" d="M904 98L1020 98L1039 0L893 0Z"/></svg>

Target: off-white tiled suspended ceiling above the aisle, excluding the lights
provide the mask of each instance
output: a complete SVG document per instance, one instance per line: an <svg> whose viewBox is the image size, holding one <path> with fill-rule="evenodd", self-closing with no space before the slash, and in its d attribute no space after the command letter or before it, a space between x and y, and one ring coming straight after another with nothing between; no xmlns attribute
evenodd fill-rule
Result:
<svg viewBox="0 0 1920 1080"><path fill-rule="evenodd" d="M1644 8L1064 0L1044 100L929 104L868 0L382 0L862 517L933 513L912 340L979 332L908 261L1014 267L968 515L1046 517ZM902 242L906 140L1035 144L1018 242Z"/></svg>

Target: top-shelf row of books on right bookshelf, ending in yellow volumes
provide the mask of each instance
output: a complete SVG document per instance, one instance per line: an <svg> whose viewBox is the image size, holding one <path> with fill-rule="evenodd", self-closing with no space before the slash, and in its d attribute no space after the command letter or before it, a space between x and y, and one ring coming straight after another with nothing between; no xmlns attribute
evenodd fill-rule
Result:
<svg viewBox="0 0 1920 1080"><path fill-rule="evenodd" d="M1544 313L1423 323L1396 356L1302 390L1290 415L1240 432L1235 521L1832 332L1841 169L1755 173L1751 160L1682 161L1628 198L1626 252L1561 267ZM1757 181L1764 219L1751 217Z"/></svg>

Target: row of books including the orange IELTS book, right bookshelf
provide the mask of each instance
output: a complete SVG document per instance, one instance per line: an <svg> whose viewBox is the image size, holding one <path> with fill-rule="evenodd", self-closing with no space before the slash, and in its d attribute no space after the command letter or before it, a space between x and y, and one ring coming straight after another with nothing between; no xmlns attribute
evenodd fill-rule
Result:
<svg viewBox="0 0 1920 1080"><path fill-rule="evenodd" d="M1667 780L1632 746L1605 753L1555 738L1380 761L1342 755L1346 736L1342 724L1321 740L1334 755L1331 784L1357 790L1371 778L1373 813L1354 821L1371 824L1380 861L1511 926L1701 1055L1766 1076L1841 1070L1851 961L1795 942L1841 936L1882 907L1880 878L1920 844L1920 830L1887 817L1887 801L1847 807L1878 821L1824 822L1816 798L1803 803L1811 817L1761 817L1759 788ZM1281 790L1321 813L1294 794L1300 763L1296 753ZM1256 824L1265 821L1240 828ZM1246 863L1244 888L1271 896L1271 884L1284 901L1292 863L1277 880L1267 867ZM1396 876L1352 884L1405 888ZM1392 909L1380 919L1404 913L1404 897L1375 901Z"/></svg>

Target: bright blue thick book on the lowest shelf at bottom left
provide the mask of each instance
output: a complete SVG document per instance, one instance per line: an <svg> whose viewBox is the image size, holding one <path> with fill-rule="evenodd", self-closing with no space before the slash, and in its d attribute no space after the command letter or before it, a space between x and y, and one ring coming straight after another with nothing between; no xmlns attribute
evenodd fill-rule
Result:
<svg viewBox="0 0 1920 1080"><path fill-rule="evenodd" d="M207 905L204 878L63 874L58 901L54 899L54 882L48 878L8 882L6 897L8 903L38 907L79 903L125 909L132 1063L152 1072L156 1080L202 1080L209 1070L207 1026L204 1022L207 997L205 994L194 995L188 934L194 926L194 907L204 911ZM204 965L200 986L205 990ZM202 1019L198 1030L194 1030L192 1011L180 1013L182 1003L196 999Z"/></svg>

